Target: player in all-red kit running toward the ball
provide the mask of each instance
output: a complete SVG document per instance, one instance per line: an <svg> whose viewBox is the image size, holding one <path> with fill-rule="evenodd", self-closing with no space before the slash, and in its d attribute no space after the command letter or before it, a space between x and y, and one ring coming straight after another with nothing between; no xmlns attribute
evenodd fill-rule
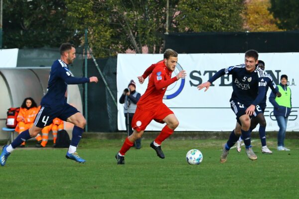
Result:
<svg viewBox="0 0 299 199"><path fill-rule="evenodd" d="M176 63L177 53L172 49L166 49L164 59L156 64L152 64L143 75L143 78L146 78L151 72L148 88L138 101L132 120L131 125L134 131L132 135L126 138L121 150L115 155L117 164L125 164L126 152L133 146L135 140L142 137L144 130L153 119L159 123L166 123L160 134L150 143L150 147L155 150L157 156L162 159L165 158L160 145L173 133L178 126L178 120L173 112L163 103L162 99L169 85L186 76L185 71L180 71L175 77L171 78Z"/></svg>

